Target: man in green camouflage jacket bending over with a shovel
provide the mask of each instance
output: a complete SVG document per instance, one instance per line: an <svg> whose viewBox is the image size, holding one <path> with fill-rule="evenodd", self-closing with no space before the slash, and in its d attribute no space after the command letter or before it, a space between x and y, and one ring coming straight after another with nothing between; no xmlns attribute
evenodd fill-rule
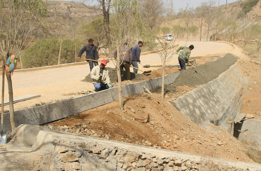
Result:
<svg viewBox="0 0 261 171"><path fill-rule="evenodd" d="M182 51L179 54L178 60L180 63L180 71L186 69L186 63L189 62L189 56L191 53L191 50L194 49L193 45L190 45L189 47L181 46L176 50L176 53L178 53L180 50Z"/></svg>

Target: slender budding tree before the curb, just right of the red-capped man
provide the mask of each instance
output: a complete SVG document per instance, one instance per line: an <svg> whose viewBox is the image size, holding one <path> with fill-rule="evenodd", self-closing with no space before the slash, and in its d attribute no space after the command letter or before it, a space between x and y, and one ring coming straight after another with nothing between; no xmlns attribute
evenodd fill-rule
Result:
<svg viewBox="0 0 261 171"><path fill-rule="evenodd" d="M122 83L120 74L120 51L125 42L130 42L132 37L139 34L140 18L136 0L114 0L111 10L110 39L117 50L115 67L118 76L119 107L123 110ZM111 58L113 58L111 56Z"/></svg>

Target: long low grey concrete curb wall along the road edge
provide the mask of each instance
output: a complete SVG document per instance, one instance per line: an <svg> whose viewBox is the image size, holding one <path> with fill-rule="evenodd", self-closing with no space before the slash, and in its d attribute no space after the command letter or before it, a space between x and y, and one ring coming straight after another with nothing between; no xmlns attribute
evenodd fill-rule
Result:
<svg viewBox="0 0 261 171"><path fill-rule="evenodd" d="M172 84L178 75L179 72L165 76L165 84ZM145 86L148 90L151 90L154 89L156 86L160 86L161 81L162 78L156 78L153 80L146 80L124 85L122 86L122 96L127 97L129 95L144 93L146 92L146 90L143 88L143 86ZM97 106L113 102L118 98L118 87L113 87L111 89L84 95L78 98L66 99L62 102L14 111L14 121L16 126L19 126L20 124L45 124L57 119L62 119L68 116L75 115L77 113L95 108ZM11 132L12 128L10 125L9 113L4 113L3 123L4 129Z"/></svg>

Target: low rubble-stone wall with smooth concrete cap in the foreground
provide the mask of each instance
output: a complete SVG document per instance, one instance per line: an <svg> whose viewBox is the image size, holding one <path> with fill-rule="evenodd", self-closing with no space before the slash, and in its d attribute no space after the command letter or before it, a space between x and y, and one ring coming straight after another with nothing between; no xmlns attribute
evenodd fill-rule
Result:
<svg viewBox="0 0 261 171"><path fill-rule="evenodd" d="M261 165L257 163L203 157L126 142L78 136L38 126L21 125L17 128L16 135L18 141L32 146L32 149L41 148L52 151L52 163L55 164L50 165L50 170L60 170L62 166L67 168L66 170L73 170L74 164L78 165L80 170L91 171L185 171L218 170L218 168L221 170L221 168L227 169L227 167L231 170L254 171L261 168ZM29 135L30 137L27 137ZM63 160L62 162L61 160L67 156L75 156L77 161ZM209 168L204 168L205 164L211 165Z"/></svg>

